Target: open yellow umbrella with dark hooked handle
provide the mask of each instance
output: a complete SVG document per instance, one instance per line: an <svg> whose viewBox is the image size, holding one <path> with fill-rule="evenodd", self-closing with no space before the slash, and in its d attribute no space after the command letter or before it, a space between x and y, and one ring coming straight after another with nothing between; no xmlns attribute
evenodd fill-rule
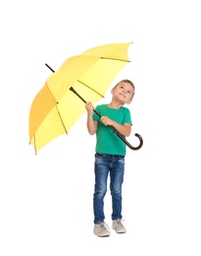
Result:
<svg viewBox="0 0 201 256"><path fill-rule="evenodd" d="M70 57L56 72L52 70L54 73L47 78L30 107L29 143L34 146L35 154L56 137L68 133L85 112L85 105L77 96L92 103L104 96L114 78L129 62L129 45L97 46ZM140 145L134 150L142 146L141 137L135 135L140 139ZM127 146L130 145L127 143Z"/></svg>

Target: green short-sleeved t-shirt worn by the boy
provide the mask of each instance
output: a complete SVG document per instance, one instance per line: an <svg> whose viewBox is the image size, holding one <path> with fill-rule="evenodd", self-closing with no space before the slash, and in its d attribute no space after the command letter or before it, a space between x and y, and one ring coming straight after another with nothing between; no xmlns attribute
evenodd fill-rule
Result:
<svg viewBox="0 0 201 256"><path fill-rule="evenodd" d="M108 116L112 120L120 123L131 124L129 109L121 107L120 109L110 108L107 104L96 106L95 110L101 116ZM100 117L94 112L93 120L98 122L96 131L96 153L126 156L126 143L118 137L118 135L109 127L99 122Z"/></svg>

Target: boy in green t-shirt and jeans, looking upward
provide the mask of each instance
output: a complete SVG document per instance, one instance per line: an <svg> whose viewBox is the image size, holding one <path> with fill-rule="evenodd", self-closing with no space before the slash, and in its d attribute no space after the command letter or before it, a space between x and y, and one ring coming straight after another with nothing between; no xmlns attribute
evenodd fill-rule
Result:
<svg viewBox="0 0 201 256"><path fill-rule="evenodd" d="M123 136L131 133L129 104L134 96L134 85L129 80L122 80L111 91L112 101L96 107L99 117L94 113L91 102L85 103L87 111L87 129L90 135L96 134L95 147L95 186L93 195L94 229L98 236L109 236L110 231L104 223L104 197L107 192L107 179L110 173L112 196L112 227L117 233L125 233L122 223L122 185L125 174L126 144L110 129L116 128Z"/></svg>

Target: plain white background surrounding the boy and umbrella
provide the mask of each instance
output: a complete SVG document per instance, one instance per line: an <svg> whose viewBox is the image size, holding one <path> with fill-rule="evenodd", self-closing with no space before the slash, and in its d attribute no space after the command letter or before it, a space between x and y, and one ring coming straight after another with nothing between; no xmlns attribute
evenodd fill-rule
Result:
<svg viewBox="0 0 201 256"><path fill-rule="evenodd" d="M199 1L2 1L0 255L201 255ZM31 102L82 51L130 42L115 79L136 87L124 183L126 234L93 234L95 137L85 114L35 156ZM112 85L112 86L113 86ZM110 100L110 91L106 101ZM111 198L105 201L111 225Z"/></svg>

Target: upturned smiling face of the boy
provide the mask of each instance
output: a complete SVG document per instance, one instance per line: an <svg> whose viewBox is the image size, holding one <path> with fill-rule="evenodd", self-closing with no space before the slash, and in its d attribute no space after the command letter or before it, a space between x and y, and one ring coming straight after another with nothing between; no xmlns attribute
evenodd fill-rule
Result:
<svg viewBox="0 0 201 256"><path fill-rule="evenodd" d="M124 104L129 104L132 100L132 96L134 95L134 89L129 83L120 82L115 88L113 88L112 94L115 98L122 100Z"/></svg>

